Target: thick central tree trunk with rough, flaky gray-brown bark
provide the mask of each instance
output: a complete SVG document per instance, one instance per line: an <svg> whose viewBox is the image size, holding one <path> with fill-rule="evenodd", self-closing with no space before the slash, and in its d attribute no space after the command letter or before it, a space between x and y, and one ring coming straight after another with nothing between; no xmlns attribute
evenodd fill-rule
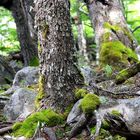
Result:
<svg viewBox="0 0 140 140"><path fill-rule="evenodd" d="M40 42L41 107L64 111L74 101L83 77L75 65L68 0L38 0L35 9ZM45 103L45 104L44 104Z"/></svg>

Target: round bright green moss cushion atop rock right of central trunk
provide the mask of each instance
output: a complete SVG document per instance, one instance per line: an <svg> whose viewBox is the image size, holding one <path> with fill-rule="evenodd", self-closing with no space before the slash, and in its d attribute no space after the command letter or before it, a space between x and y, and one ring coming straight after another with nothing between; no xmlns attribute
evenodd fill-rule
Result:
<svg viewBox="0 0 140 140"><path fill-rule="evenodd" d="M100 105L100 99L95 94L87 94L80 103L80 108L85 114L92 114L93 111Z"/></svg>

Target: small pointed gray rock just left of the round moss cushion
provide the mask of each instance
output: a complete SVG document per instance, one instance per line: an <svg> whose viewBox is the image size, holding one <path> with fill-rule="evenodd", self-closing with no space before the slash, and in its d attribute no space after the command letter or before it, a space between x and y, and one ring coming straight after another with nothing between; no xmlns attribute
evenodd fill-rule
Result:
<svg viewBox="0 0 140 140"><path fill-rule="evenodd" d="M72 110L70 111L67 117L67 124L72 125L78 122L79 118L81 117L82 111L79 108L80 102L81 100L77 101L75 105L73 106Z"/></svg>

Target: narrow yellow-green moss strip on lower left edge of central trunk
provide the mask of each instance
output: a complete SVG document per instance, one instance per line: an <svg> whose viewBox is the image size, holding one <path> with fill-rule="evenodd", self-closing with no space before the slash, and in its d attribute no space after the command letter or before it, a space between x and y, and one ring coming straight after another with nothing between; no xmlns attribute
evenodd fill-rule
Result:
<svg viewBox="0 0 140 140"><path fill-rule="evenodd" d="M38 95L36 96L36 101L35 101L37 107L39 107L39 102L45 97L44 84L45 84L45 76L40 75L38 81L39 92Z"/></svg>

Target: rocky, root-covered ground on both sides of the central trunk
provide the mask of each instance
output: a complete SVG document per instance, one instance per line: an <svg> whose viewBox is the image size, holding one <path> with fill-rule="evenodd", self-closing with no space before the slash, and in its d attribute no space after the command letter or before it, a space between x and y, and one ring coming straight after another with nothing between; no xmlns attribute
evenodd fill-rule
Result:
<svg viewBox="0 0 140 140"><path fill-rule="evenodd" d="M10 84L4 80L5 78L0 79L0 139L27 139L23 136L13 137L10 132L15 122L24 121L36 110L38 67L24 67L15 72L15 76L14 70L12 74L5 73L1 65L0 70L3 77L8 75L11 78L8 81L13 81ZM139 139L140 73L122 84L116 84L113 76L108 76L106 71L97 69L93 71L90 67L82 67L81 72L86 86L77 91L77 102L67 112L65 123L55 127L39 125L32 139L125 140L131 137ZM99 104L95 100L95 95L98 95ZM89 97L93 98L91 105L82 106Z"/></svg>

